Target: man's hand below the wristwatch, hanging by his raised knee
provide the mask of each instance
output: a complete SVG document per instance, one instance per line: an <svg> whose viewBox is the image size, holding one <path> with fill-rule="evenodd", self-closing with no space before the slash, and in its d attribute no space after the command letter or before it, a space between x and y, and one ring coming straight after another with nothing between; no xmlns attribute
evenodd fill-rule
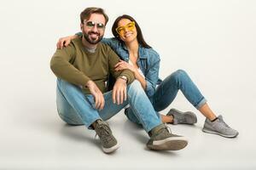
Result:
<svg viewBox="0 0 256 170"><path fill-rule="evenodd" d="M126 81L122 78L118 78L113 86L112 94L113 103L123 104L124 99L126 100Z"/></svg>

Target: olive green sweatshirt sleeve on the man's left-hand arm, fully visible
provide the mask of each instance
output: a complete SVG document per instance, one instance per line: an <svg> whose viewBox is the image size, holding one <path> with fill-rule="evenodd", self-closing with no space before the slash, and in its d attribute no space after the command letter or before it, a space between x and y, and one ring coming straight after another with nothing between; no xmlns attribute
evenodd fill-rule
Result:
<svg viewBox="0 0 256 170"><path fill-rule="evenodd" d="M79 86L85 86L90 78L72 65L75 54L73 43L67 46L67 48L56 49L55 54L50 60L50 69L55 73L56 77Z"/></svg>

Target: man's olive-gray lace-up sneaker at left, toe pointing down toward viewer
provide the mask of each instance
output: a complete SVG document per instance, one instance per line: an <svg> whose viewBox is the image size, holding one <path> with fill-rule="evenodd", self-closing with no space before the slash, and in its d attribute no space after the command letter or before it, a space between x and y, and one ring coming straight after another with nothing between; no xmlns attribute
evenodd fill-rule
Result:
<svg viewBox="0 0 256 170"><path fill-rule="evenodd" d="M106 122L97 120L95 131L101 140L102 150L105 153L111 153L119 148L119 144L113 137L112 131Z"/></svg>

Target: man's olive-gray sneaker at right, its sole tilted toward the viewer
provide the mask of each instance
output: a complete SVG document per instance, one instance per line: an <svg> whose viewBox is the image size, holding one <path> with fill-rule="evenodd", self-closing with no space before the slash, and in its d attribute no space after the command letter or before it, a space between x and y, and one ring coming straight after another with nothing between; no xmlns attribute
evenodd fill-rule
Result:
<svg viewBox="0 0 256 170"><path fill-rule="evenodd" d="M154 127L150 136L147 143L150 150L181 150L188 144L183 136L170 133L165 124Z"/></svg>

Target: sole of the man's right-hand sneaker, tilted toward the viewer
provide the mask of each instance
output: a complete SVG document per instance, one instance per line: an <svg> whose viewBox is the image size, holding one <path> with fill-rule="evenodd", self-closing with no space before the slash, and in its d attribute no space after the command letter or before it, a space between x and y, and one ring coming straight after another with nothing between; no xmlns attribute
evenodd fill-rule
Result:
<svg viewBox="0 0 256 170"><path fill-rule="evenodd" d="M154 141L153 144L148 144L150 150L182 150L188 145L188 140L183 138L171 137L164 140Z"/></svg>

